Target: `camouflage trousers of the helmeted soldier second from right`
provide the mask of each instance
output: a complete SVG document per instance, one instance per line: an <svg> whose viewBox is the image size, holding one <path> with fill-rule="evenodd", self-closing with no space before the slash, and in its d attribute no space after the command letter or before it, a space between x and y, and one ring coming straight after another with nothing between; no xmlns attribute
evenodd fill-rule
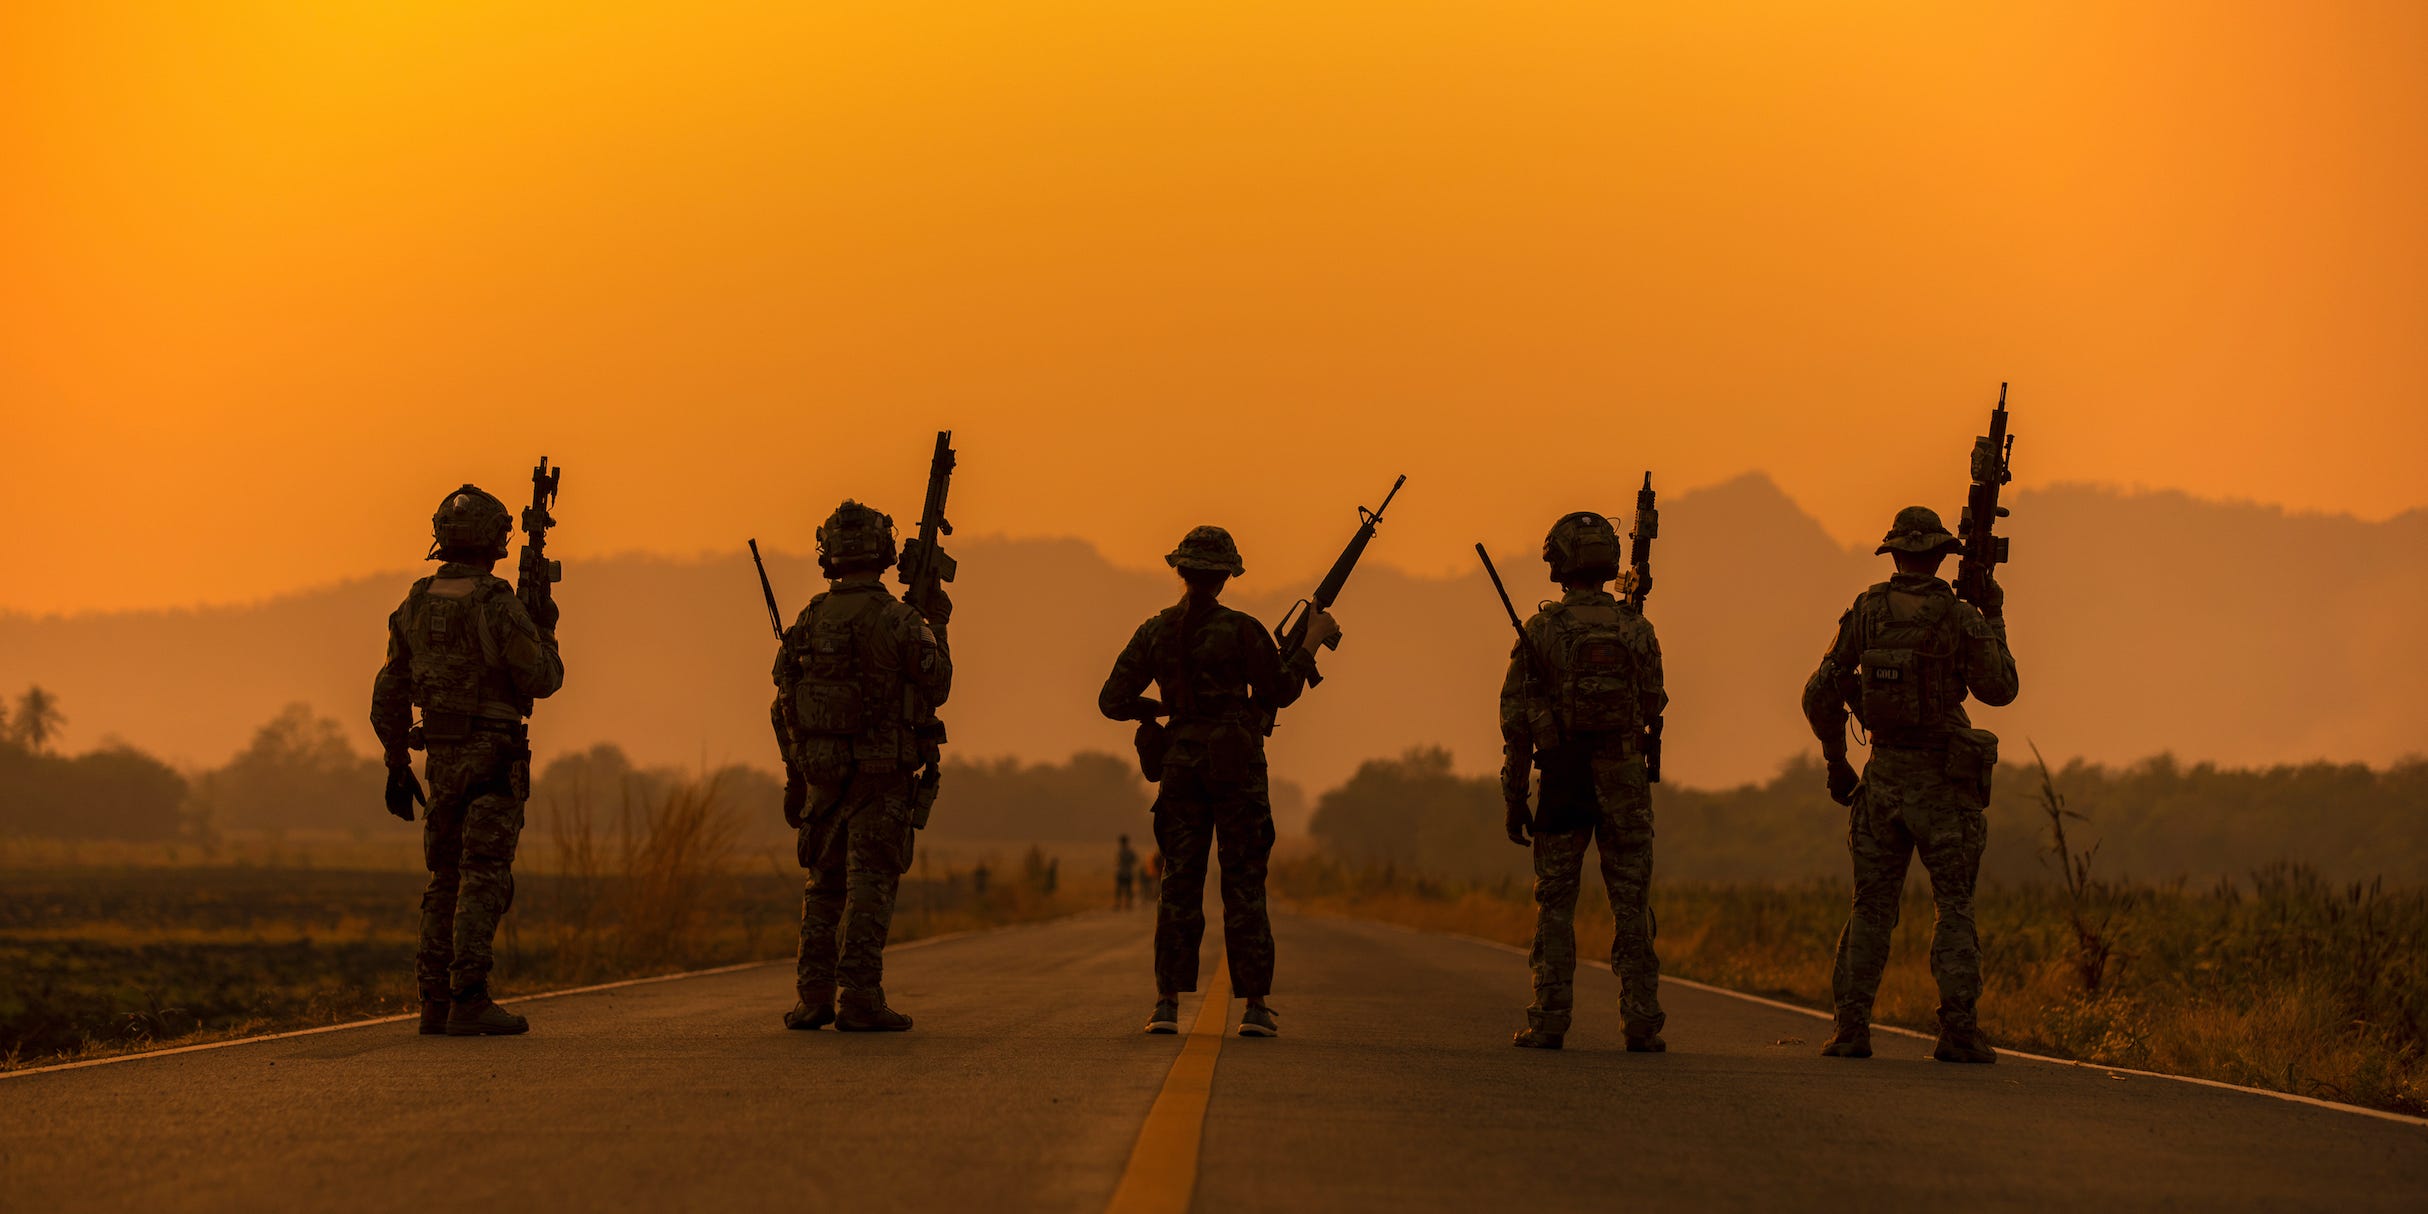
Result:
<svg viewBox="0 0 2428 1214"><path fill-rule="evenodd" d="M1534 833L1534 1005L1530 1027L1568 1032L1576 1010L1576 896L1585 872L1585 847L1600 847L1602 889L1617 930L1610 937L1610 971L1619 976L1619 1020L1629 1037L1661 1032L1661 957L1653 954L1653 799L1639 755L1593 758L1600 801L1593 826Z"/></svg>

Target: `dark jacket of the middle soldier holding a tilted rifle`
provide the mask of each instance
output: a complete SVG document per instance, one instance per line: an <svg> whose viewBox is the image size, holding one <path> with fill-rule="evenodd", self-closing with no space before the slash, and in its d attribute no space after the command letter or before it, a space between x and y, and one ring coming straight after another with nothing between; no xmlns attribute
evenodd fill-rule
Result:
<svg viewBox="0 0 2428 1214"><path fill-rule="evenodd" d="M1165 767L1209 765L1233 777L1265 762L1265 726L1299 702L1314 653L1282 665L1282 646L1248 612L1224 605L1192 609L1182 597L1139 624L1112 660L1095 707L1114 721L1141 721L1153 685L1170 711Z"/></svg>

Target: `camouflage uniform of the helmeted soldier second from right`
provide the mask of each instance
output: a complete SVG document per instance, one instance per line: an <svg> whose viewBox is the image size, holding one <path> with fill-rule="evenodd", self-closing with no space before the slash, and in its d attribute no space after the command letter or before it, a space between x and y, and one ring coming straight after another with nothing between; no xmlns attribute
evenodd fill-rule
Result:
<svg viewBox="0 0 2428 1214"><path fill-rule="evenodd" d="M1661 641L1649 619L1593 588L1568 590L1559 602L1544 605L1527 619L1525 636L1501 682L1501 794L1522 806L1527 775L1539 762L1542 789L1532 823L1534 947L1527 954L1534 1005L1527 1008L1527 1027L1551 1039L1568 1032L1576 1008L1576 896L1585 847L1598 845L1602 886L1617 920L1610 969L1619 976L1619 1017L1627 1037L1644 1042L1668 1022L1661 1012L1661 957L1653 954L1653 913L1646 901L1653 879L1653 801L1641 745L1641 724L1668 707ZM1549 685L1559 675L1537 675L1527 653L1554 660L1578 636L1605 636L1622 651L1622 670L1632 670L1624 682L1634 694L1634 728L1578 731L1564 721L1561 694ZM1544 753L1554 741L1561 743L1559 750Z"/></svg>

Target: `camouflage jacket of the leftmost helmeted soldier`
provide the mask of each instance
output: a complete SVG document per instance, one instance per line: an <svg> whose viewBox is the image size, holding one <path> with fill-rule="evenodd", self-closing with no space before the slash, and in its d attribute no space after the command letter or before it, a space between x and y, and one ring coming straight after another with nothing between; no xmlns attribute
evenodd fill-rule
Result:
<svg viewBox="0 0 2428 1214"><path fill-rule="evenodd" d="M371 680L371 731L388 762L408 760L413 709L422 719L522 721L566 685L556 634L532 624L512 583L447 561L413 583L388 614L388 660Z"/></svg>

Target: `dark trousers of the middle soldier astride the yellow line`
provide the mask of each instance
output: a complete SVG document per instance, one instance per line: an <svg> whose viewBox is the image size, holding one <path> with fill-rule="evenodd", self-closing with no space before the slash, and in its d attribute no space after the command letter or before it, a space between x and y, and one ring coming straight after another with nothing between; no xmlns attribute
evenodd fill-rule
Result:
<svg viewBox="0 0 2428 1214"><path fill-rule="evenodd" d="M1265 910L1265 862L1272 860L1272 801L1265 772L1204 779L1173 767L1156 794L1156 845L1163 891L1156 898L1156 991L1197 991L1197 952L1207 937L1207 852L1221 862L1221 940L1231 993L1272 993L1272 915Z"/></svg>

